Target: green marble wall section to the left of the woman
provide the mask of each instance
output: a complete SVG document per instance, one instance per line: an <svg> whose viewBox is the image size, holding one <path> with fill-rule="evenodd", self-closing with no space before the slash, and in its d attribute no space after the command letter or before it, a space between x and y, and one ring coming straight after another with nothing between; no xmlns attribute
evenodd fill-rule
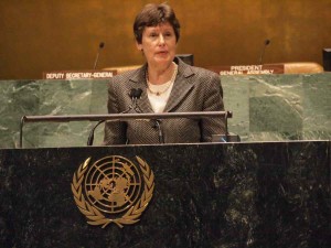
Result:
<svg viewBox="0 0 331 248"><path fill-rule="evenodd" d="M106 80L1 82L0 140L2 148L18 148L23 116L106 114ZM29 122L24 148L85 145L95 122ZM102 143L103 128L95 143Z"/></svg>

